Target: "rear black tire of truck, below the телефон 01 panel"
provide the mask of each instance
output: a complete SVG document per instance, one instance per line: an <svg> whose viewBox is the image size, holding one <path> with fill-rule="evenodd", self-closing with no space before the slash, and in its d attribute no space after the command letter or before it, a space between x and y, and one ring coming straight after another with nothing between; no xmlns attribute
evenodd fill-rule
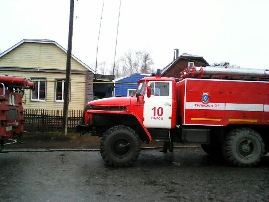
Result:
<svg viewBox="0 0 269 202"><path fill-rule="evenodd" d="M234 166L256 166L264 156L263 138L250 128L232 130L223 145L224 158Z"/></svg>

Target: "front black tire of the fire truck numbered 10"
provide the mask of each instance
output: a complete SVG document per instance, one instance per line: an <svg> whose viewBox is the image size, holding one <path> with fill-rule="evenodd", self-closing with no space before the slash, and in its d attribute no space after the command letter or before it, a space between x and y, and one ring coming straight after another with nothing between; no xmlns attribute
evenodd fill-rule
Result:
<svg viewBox="0 0 269 202"><path fill-rule="evenodd" d="M115 126L108 129L101 140L101 155L110 166L132 166L140 151L138 135L127 126Z"/></svg>

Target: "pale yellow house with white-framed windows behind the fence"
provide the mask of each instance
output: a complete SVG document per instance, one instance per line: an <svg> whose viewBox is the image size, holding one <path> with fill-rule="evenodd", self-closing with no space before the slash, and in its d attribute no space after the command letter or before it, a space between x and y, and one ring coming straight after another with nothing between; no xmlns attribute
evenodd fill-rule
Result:
<svg viewBox="0 0 269 202"><path fill-rule="evenodd" d="M23 76L36 82L25 90L24 109L63 109L67 50L52 40L24 39L0 54L0 75ZM69 110L81 110L92 100L94 70L71 58Z"/></svg>

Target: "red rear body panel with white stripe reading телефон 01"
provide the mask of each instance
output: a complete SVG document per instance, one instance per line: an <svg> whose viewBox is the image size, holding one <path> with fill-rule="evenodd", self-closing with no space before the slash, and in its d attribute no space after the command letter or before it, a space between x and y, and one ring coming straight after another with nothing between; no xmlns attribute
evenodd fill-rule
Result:
<svg viewBox="0 0 269 202"><path fill-rule="evenodd" d="M177 100L183 125L269 125L268 82L183 79Z"/></svg>

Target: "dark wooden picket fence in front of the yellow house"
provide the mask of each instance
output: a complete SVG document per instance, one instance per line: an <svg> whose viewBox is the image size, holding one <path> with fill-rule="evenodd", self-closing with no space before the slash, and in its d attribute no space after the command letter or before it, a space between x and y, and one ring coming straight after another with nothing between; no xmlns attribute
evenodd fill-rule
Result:
<svg viewBox="0 0 269 202"><path fill-rule="evenodd" d="M68 132L76 132L82 113L83 110L68 111ZM24 130L29 133L63 131L63 110L25 109L24 120Z"/></svg>

